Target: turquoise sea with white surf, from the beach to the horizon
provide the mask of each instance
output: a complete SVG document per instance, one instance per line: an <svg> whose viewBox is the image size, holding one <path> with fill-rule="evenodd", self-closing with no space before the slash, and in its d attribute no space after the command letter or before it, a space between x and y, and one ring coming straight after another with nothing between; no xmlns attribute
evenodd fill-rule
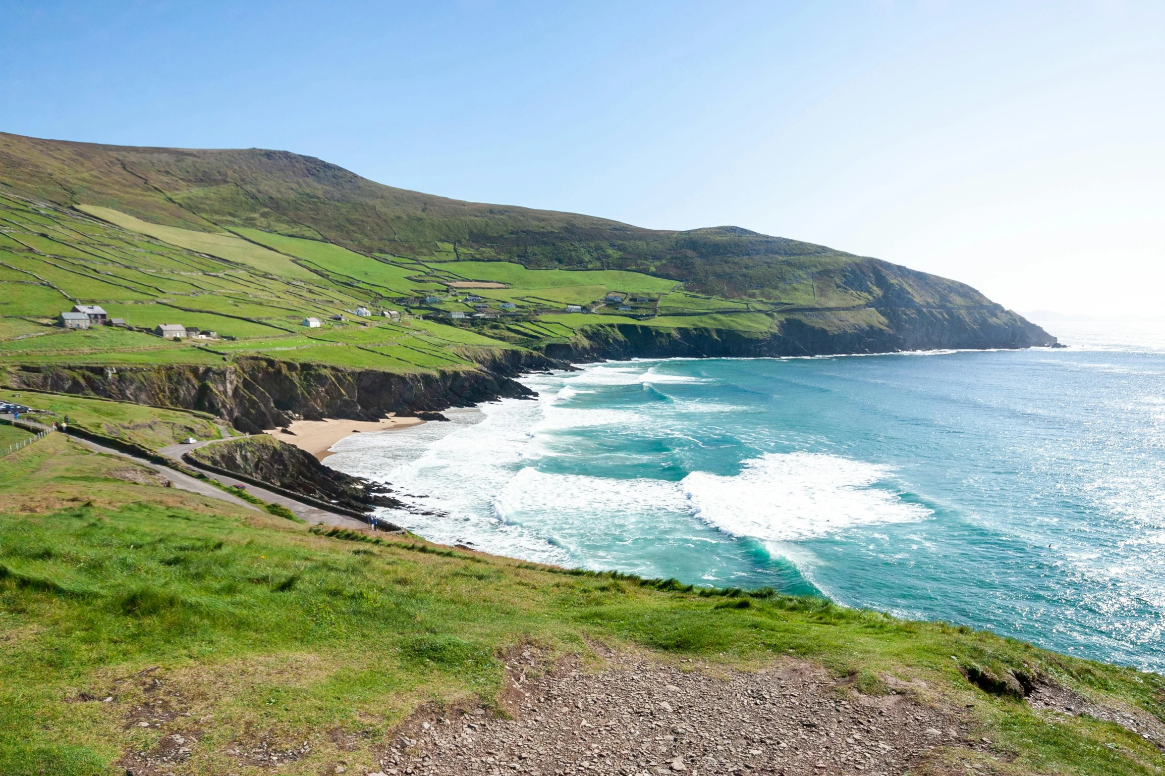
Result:
<svg viewBox="0 0 1165 776"><path fill-rule="evenodd" d="M436 541L990 628L1165 669L1165 353L589 365L361 434Z"/></svg>

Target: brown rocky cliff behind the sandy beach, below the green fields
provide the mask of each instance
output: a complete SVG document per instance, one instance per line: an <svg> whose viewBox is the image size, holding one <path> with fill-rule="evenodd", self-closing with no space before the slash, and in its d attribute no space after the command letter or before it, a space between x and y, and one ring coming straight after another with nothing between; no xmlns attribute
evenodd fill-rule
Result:
<svg viewBox="0 0 1165 776"><path fill-rule="evenodd" d="M257 433L297 418L376 420L389 412L439 411L531 392L511 379L525 369L555 365L537 354L507 351L487 368L395 373L240 358L223 366L40 366L8 369L13 387L98 396L200 410L239 430Z"/></svg>

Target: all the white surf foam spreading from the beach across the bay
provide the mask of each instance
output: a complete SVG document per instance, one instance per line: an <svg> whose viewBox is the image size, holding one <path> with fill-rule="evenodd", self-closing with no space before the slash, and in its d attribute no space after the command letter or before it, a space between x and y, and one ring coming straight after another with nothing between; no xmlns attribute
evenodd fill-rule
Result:
<svg viewBox="0 0 1165 776"><path fill-rule="evenodd" d="M592 568L633 568L633 548L691 547L716 541L719 532L760 540L809 571L810 558L790 542L930 513L877 486L889 470L832 455L770 454L735 476L696 471L682 482L546 471L551 458L578 454L579 433L671 436L689 430L676 413L707 412L715 403L685 400L648 413L574 401L584 385L700 382L635 362L523 382L538 391L537 401L508 399L451 411L449 423L358 434L329 463L391 483L411 508L383 517L433 541Z"/></svg>

